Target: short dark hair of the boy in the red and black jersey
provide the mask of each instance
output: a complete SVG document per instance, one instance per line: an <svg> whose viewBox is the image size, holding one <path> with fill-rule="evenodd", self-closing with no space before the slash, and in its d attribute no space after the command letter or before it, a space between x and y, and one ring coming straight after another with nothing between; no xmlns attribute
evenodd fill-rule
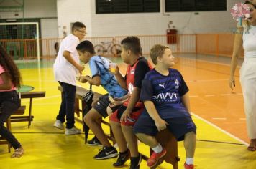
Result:
<svg viewBox="0 0 256 169"><path fill-rule="evenodd" d="M138 37L126 37L121 41L122 46L126 50L131 50L134 54L142 54L142 47Z"/></svg>

